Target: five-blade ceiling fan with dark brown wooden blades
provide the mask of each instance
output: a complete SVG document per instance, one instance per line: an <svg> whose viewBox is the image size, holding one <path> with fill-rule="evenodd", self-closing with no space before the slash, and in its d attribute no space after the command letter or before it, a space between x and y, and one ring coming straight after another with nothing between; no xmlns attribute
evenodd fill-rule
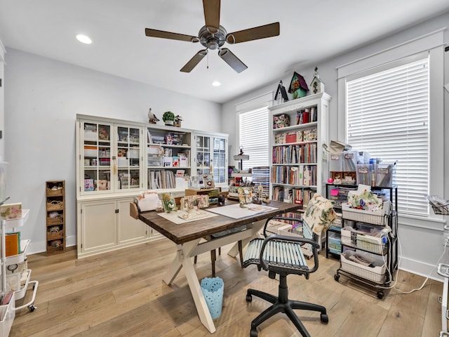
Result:
<svg viewBox="0 0 449 337"><path fill-rule="evenodd" d="M147 37L161 37L162 39L199 42L202 46L206 47L206 49L196 53L194 57L182 67L181 72L191 72L203 57L208 54L209 50L215 49L218 50L220 58L225 60L232 69L236 72L243 72L243 70L246 70L248 67L241 62L236 55L229 51L228 48L222 48L223 44L225 44L225 42L228 44L239 44L241 42L276 37L279 35L279 22L228 33L225 27L220 25L220 0L203 0L203 9L206 25L199 29L198 37L164 32L163 30L157 29L145 29L145 35L147 35Z"/></svg>

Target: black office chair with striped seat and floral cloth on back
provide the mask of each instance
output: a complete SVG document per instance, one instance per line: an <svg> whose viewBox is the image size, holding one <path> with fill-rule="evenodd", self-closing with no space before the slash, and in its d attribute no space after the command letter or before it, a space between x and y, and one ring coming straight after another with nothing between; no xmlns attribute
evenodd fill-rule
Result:
<svg viewBox="0 0 449 337"><path fill-rule="evenodd" d="M265 222L263 230L264 239L257 238L250 241L248 249L246 249L243 267L255 264L257 265L257 270L267 270L270 279L275 279L276 274L279 275L278 296L256 289L248 289L246 293L247 302L251 302L253 296L257 296L272 303L272 306L264 310L264 312L251 322L251 337L257 337L257 326L278 312L285 313L293 324L295 324L302 336L309 337L309 333L300 318L293 311L294 309L321 312L321 322L328 323L329 318L326 313L326 308L322 305L288 299L287 275L304 275L306 279L309 279L309 275L318 269L318 249L320 245L316 239L323 230L327 230L330 223L336 217L335 211L333 210L333 202L321 197L319 194L314 194L314 197L309 201L302 220L304 237L290 237L276 234L267 237L266 230L269 220L292 220L292 218L276 216ZM314 265L311 268L308 267L304 254L302 253L302 246L306 244L311 247L314 256Z"/></svg>

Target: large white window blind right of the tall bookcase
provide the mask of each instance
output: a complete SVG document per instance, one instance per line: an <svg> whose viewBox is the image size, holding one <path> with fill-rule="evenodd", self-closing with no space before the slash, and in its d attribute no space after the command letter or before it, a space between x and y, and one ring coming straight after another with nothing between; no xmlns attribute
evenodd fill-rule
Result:
<svg viewBox="0 0 449 337"><path fill-rule="evenodd" d="M347 80L347 142L396 164L398 211L428 215L429 58Z"/></svg>

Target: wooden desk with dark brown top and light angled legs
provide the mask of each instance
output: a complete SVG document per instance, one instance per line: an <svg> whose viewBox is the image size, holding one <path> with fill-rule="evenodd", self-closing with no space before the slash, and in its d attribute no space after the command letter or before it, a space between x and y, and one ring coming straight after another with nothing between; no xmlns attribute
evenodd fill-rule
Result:
<svg viewBox="0 0 449 337"><path fill-rule="evenodd" d="M245 246L250 239L257 236L260 228L264 225L264 220L281 213L295 211L299 208L299 205L297 204L287 204L279 201L272 201L268 206L275 207L276 209L264 213L256 213L253 216L245 218L234 219L218 215L213 218L196 220L181 225L177 225L170 220L158 216L154 211L139 214L140 220L168 237L168 239L176 244L177 256L171 265L168 266L163 281L168 285L172 284L178 272L180 272L181 268L184 268L199 319L210 333L215 332L215 325L213 324L213 319L210 316L198 277L196 276L193 257L227 244L236 243L239 240L241 240L243 246ZM231 230L232 228L243 225L246 225L246 230L213 239L212 241L200 243L201 238L203 237L222 232L223 230ZM237 244L235 244L228 254L230 256L236 256L237 253Z"/></svg>

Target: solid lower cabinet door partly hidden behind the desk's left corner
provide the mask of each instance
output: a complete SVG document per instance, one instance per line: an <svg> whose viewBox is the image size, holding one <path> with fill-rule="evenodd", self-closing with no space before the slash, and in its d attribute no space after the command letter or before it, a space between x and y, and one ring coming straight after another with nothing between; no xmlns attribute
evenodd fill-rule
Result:
<svg viewBox="0 0 449 337"><path fill-rule="evenodd" d="M133 199L121 199L117 201L119 244L137 243L147 239L150 227L129 215L129 203Z"/></svg>

